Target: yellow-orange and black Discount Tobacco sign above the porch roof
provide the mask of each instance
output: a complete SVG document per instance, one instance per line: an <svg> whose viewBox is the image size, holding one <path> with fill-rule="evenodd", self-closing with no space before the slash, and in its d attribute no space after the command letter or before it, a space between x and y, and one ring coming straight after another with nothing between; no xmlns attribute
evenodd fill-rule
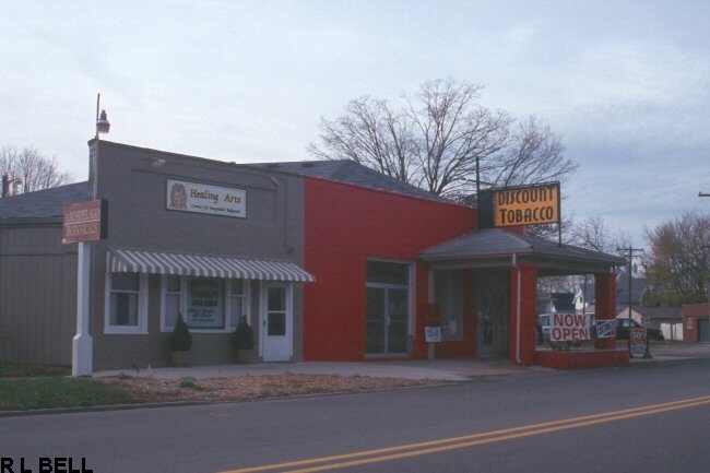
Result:
<svg viewBox="0 0 710 473"><path fill-rule="evenodd" d="M559 182L495 190L495 226L559 222Z"/></svg>

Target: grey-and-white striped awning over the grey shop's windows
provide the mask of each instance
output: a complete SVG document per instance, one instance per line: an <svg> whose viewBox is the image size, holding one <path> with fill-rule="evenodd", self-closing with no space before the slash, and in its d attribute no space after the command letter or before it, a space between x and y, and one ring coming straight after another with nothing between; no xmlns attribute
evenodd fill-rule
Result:
<svg viewBox="0 0 710 473"><path fill-rule="evenodd" d="M316 282L316 277L288 261L225 256L189 255L111 248L109 269L115 273L173 274L261 281Z"/></svg>

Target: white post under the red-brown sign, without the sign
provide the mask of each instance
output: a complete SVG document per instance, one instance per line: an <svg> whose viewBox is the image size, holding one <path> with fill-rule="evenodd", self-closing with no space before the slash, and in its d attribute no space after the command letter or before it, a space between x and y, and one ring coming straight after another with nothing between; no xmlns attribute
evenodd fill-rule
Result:
<svg viewBox="0 0 710 473"><path fill-rule="evenodd" d="M93 371L93 342L88 334L91 244L80 241L76 264L76 334L72 343L71 376Z"/></svg>

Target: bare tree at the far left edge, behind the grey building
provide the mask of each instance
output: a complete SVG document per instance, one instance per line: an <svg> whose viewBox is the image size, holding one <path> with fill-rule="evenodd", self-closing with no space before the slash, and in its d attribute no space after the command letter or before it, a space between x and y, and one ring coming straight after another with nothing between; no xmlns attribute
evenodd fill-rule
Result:
<svg viewBox="0 0 710 473"><path fill-rule="evenodd" d="M60 169L57 157L44 156L34 147L22 151L14 146L0 149L0 173L10 179L21 180L23 192L62 186L73 180L73 176Z"/></svg>

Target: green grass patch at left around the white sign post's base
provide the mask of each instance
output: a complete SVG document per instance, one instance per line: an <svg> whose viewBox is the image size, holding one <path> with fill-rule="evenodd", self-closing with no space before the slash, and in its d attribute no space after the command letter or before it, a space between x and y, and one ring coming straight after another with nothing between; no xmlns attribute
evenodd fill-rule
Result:
<svg viewBox="0 0 710 473"><path fill-rule="evenodd" d="M120 387L66 374L63 367L0 364L0 411L143 402Z"/></svg>

